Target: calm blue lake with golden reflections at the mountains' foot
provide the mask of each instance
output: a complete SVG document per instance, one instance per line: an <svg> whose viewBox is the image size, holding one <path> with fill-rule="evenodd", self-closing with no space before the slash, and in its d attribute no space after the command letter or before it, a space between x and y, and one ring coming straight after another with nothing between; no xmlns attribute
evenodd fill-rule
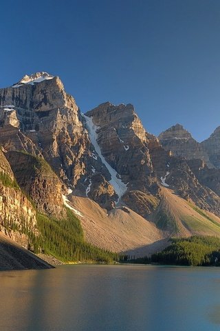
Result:
<svg viewBox="0 0 220 331"><path fill-rule="evenodd" d="M1 331L220 330L220 268L63 265L0 272Z"/></svg>

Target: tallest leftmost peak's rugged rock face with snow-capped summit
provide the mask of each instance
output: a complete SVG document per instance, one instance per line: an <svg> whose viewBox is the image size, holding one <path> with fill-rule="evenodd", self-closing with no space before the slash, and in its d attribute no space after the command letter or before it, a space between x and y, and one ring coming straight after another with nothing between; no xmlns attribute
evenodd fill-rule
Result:
<svg viewBox="0 0 220 331"><path fill-rule="evenodd" d="M85 168L81 157L89 144L87 133L74 98L65 92L61 80L41 74L25 76L0 90L0 112L19 121L14 119L14 126L1 121L0 143L6 150L43 155L61 179L76 185ZM9 134L10 141L5 139Z"/></svg>

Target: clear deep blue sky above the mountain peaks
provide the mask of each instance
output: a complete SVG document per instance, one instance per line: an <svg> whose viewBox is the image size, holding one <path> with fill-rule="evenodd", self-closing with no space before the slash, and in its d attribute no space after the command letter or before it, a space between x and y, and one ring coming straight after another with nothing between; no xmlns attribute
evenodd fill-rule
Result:
<svg viewBox="0 0 220 331"><path fill-rule="evenodd" d="M86 112L133 103L148 132L220 126L219 0L3 0L0 87L61 77Z"/></svg>

